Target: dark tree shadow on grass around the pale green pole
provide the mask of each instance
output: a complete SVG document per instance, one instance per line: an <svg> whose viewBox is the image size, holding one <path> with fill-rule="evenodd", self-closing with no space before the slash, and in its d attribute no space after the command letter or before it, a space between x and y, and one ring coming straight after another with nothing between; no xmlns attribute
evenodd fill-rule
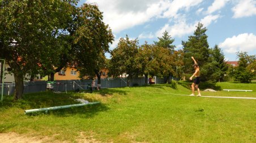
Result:
<svg viewBox="0 0 256 143"><path fill-rule="evenodd" d="M25 110L29 109L40 109L49 108L54 106L64 106L81 104L81 102L75 101L75 99L82 99L83 96L74 93L53 93L53 92L38 92L26 94L22 100L14 101L11 96L5 97L3 103L0 104L0 111L8 110L10 108L19 108ZM96 102L93 99L85 99L89 102ZM106 111L109 108L104 104L93 104L79 107L71 107L66 109L39 111L35 113L28 113L28 116L42 115L42 114L53 114L58 117L69 117L74 114L80 114L86 117L92 117L99 111Z"/></svg>

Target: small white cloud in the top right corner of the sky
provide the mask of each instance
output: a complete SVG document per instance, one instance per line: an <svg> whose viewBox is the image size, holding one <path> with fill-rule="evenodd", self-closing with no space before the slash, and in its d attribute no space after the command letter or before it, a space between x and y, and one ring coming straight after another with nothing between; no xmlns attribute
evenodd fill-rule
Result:
<svg viewBox="0 0 256 143"><path fill-rule="evenodd" d="M232 8L232 11L234 12L233 18L256 15L256 1L240 0L237 5Z"/></svg>

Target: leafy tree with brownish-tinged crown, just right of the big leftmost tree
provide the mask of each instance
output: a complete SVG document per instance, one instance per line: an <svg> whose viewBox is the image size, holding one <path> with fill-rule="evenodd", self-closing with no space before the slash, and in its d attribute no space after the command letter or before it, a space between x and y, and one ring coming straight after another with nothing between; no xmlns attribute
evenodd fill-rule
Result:
<svg viewBox="0 0 256 143"><path fill-rule="evenodd" d="M103 12L97 5L85 3L78 8L74 32L74 61L83 75L98 78L100 84L101 69L105 65L105 52L114 37L112 30L103 22Z"/></svg>

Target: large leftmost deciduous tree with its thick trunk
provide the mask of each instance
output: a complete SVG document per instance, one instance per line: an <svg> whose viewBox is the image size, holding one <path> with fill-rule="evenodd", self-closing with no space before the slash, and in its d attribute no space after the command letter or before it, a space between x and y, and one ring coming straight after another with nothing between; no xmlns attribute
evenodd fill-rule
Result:
<svg viewBox="0 0 256 143"><path fill-rule="evenodd" d="M15 78L14 99L23 96L24 77L56 65L62 50L57 39L76 1L1 1L0 55Z"/></svg>

